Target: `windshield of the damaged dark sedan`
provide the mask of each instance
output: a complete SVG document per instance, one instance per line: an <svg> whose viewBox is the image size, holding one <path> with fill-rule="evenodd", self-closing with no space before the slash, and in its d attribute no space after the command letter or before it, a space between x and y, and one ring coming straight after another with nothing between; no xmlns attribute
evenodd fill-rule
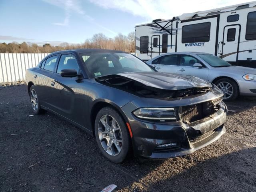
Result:
<svg viewBox="0 0 256 192"><path fill-rule="evenodd" d="M100 77L125 72L151 72L150 66L132 54L117 52L98 52L81 54L91 76Z"/></svg>

